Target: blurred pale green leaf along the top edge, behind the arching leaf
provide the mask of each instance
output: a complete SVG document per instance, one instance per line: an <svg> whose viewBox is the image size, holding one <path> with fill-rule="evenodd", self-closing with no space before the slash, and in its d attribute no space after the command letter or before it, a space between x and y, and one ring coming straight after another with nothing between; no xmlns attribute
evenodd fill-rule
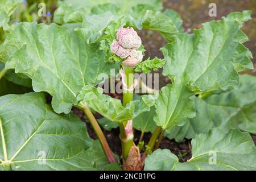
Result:
<svg viewBox="0 0 256 182"><path fill-rule="evenodd" d="M80 6L77 6L79 4ZM55 11L53 22L58 24L63 23L81 23L83 19L90 17L90 15L100 15L102 19L106 19L104 13L111 12L115 15L129 15L133 7L143 6L144 9L150 9L154 11L162 10L162 3L159 0L154 1L79 1L79 2L64 2ZM89 18L90 19L90 18ZM108 22L102 21L100 18L96 18L93 22L96 24L100 20L102 25ZM87 21L87 20L86 20Z"/></svg>

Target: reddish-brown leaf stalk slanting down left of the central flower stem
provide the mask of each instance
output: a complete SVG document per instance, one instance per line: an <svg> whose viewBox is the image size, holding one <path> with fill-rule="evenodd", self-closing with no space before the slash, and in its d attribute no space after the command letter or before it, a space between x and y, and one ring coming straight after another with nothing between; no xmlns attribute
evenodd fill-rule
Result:
<svg viewBox="0 0 256 182"><path fill-rule="evenodd" d="M84 111L86 117L88 118L90 124L92 125L93 130L97 135L97 138L100 140L100 143L104 150L104 153L109 160L109 163L115 162L115 158L113 156L112 150L110 149L109 144L108 144L104 134L102 133L101 127L98 125L98 122L94 118L94 115L92 114L92 112L86 105L80 104L79 108Z"/></svg>

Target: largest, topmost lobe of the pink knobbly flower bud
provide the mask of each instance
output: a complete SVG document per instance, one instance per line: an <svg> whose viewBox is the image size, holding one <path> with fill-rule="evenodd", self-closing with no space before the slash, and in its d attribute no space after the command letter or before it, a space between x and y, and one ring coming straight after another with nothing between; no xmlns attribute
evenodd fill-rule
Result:
<svg viewBox="0 0 256 182"><path fill-rule="evenodd" d="M120 27L117 31L117 38L119 45L123 48L138 49L142 44L141 38L132 27Z"/></svg>

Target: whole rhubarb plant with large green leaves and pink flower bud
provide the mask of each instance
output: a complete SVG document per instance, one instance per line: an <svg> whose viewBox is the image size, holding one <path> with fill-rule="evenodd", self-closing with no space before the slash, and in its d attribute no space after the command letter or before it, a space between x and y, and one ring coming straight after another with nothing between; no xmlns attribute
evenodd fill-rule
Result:
<svg viewBox="0 0 256 182"><path fill-rule="evenodd" d="M238 74L253 69L252 54L243 45L249 39L241 30L250 11L204 23L188 34L180 16L162 12L158 0L65 0L59 2L54 23L9 27L16 5L10 11L0 8L7 17L0 16L5 31L0 47L1 170L256 169L249 134L256 134L256 78ZM163 59L146 59L139 30L163 36ZM135 75L159 68L171 83L135 94L142 86ZM121 89L121 99L106 93L112 70L121 81L110 87ZM89 137L72 107L84 112L97 140ZM102 131L117 127L121 156L112 152ZM137 141L135 129L141 131ZM146 133L151 133L148 143ZM192 138L192 158L180 163L170 150L160 149L163 137L176 142Z"/></svg>

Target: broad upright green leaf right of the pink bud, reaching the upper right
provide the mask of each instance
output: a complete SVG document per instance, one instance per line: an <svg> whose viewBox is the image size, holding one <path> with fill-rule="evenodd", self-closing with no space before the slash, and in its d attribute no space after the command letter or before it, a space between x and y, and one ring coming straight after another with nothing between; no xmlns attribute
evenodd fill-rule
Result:
<svg viewBox="0 0 256 182"><path fill-rule="evenodd" d="M246 37L241 34L241 23L249 19L248 14L248 11L234 13L224 20L204 23L195 34L177 35L174 42L162 48L167 61L164 75L179 77L195 92L238 88L237 72L253 68L249 57L237 60ZM234 15L240 18L234 19ZM243 49L248 55L248 50ZM236 66L238 63L240 67Z"/></svg>

